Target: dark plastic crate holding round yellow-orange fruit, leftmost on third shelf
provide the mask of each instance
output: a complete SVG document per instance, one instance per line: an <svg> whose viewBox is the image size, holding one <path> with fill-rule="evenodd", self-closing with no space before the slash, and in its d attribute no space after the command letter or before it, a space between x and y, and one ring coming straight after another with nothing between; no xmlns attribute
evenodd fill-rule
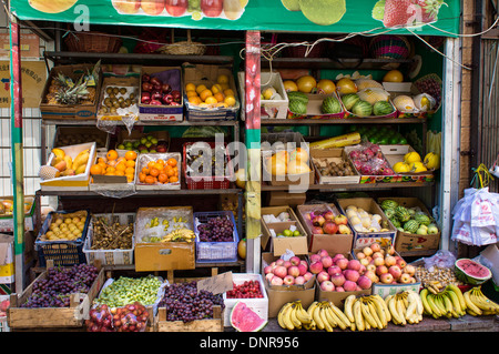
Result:
<svg viewBox="0 0 499 354"><path fill-rule="evenodd" d="M70 214L77 211L55 211L50 212L47 215L37 241L34 242L34 247L38 252L39 266L44 267L47 265L47 260L53 260L54 266L71 266L74 264L86 263L86 257L83 253L83 243L89 231L90 211L86 211L85 225L81 237L74 241L41 241L40 237L49 230L54 214Z"/></svg>

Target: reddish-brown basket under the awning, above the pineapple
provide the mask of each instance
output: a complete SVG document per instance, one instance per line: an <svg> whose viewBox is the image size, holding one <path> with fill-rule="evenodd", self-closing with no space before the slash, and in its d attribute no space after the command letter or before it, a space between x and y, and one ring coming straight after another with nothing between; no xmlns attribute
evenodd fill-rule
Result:
<svg viewBox="0 0 499 354"><path fill-rule="evenodd" d="M121 38L102 32L71 32L64 41L70 51L91 53L116 53L122 44Z"/></svg>

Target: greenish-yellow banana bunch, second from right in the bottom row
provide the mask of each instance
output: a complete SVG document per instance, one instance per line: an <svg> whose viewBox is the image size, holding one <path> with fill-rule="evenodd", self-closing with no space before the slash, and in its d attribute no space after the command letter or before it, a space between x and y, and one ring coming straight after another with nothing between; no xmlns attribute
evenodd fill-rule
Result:
<svg viewBox="0 0 499 354"><path fill-rule="evenodd" d="M424 313L434 318L444 316L458 318L464 316L468 309L466 296L462 295L461 290L455 284L449 284L444 290L435 286L425 287L419 295L425 309Z"/></svg>

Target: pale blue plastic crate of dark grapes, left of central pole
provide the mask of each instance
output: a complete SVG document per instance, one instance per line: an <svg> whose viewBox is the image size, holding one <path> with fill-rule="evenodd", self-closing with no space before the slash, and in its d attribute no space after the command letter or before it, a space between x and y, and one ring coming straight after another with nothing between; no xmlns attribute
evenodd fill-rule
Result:
<svg viewBox="0 0 499 354"><path fill-rule="evenodd" d="M222 216L231 220L234 225L232 242L201 242L197 226L206 223L210 219ZM236 262L237 261L237 243L240 236L237 234L237 225L235 223L234 213L231 211L220 212L198 212L194 213L194 232L196 234L196 262Z"/></svg>

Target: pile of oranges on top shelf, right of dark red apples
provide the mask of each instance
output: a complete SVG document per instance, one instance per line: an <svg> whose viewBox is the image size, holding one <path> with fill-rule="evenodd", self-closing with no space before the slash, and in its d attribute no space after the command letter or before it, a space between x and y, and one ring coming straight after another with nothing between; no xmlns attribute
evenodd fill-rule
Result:
<svg viewBox="0 0 499 354"><path fill-rule="evenodd" d="M189 103L197 107L234 107L236 104L235 92L228 85L228 78L221 74L216 83L206 85L204 83L185 85Z"/></svg>

